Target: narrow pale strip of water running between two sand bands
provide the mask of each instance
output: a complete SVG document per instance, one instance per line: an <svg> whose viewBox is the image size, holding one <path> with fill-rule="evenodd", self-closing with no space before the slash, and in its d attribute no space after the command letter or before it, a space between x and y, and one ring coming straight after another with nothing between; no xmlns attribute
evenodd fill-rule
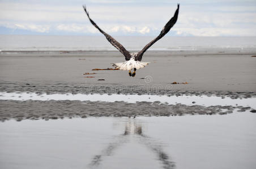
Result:
<svg viewBox="0 0 256 169"><path fill-rule="evenodd" d="M203 105L203 106L214 106L214 105L232 105L232 106L250 106L256 109L256 97L250 97L246 99L231 99L231 97L218 97L218 96L167 96L167 95L117 95L117 94L36 94L27 92L0 92L0 100L41 100L41 101L52 101L52 100L78 100L78 101L106 101L113 103L115 101L125 101L126 103L136 103L139 101L147 102L159 102L165 104L185 104L185 105Z"/></svg>

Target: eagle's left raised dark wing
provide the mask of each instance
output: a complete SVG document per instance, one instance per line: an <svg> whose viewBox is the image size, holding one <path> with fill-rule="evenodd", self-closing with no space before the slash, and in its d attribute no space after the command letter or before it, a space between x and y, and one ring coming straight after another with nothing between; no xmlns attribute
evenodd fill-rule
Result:
<svg viewBox="0 0 256 169"><path fill-rule="evenodd" d="M130 60L130 52L127 51L119 42L116 41L112 36L109 34L105 33L103 30L99 28L99 26L96 25L96 23L89 17L89 13L86 10L86 6L83 6L84 11L86 12L89 20L91 21L92 25L95 26L98 30L100 30L101 33L103 33L106 37L106 39L114 46L116 47L123 55L125 55L125 60Z"/></svg>

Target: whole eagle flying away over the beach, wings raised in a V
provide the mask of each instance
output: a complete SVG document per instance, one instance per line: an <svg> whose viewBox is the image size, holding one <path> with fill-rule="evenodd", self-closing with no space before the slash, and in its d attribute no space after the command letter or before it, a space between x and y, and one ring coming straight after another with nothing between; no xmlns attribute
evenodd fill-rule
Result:
<svg viewBox="0 0 256 169"><path fill-rule="evenodd" d="M101 30L99 28L99 26L97 26L96 23L89 17L89 13L86 10L86 6L83 6L83 7L84 7L84 11L86 11L86 14L87 14L89 20L91 21L92 25L95 26L101 33L103 33L105 35L106 39L125 56L125 60L126 60L125 62L114 63L113 66L116 66L116 68L118 68L120 70L129 70L129 75L134 77L136 69L144 68L146 65L149 64L147 62L141 62L144 52L146 52L146 50L148 48L150 48L156 41L158 41L159 39L164 37L164 35L167 34L169 32L170 28L172 28L172 26L176 23L176 21L178 19L178 10L179 10L180 5L178 5L178 8L177 8L174 16L164 26L164 28L163 28L163 30L161 30L160 34L155 39L153 39L153 41L148 43L139 52L127 51L120 43L118 43L116 41L116 39L114 39L109 34L105 33L103 30ZM133 74L131 73L132 69L134 69Z"/></svg>

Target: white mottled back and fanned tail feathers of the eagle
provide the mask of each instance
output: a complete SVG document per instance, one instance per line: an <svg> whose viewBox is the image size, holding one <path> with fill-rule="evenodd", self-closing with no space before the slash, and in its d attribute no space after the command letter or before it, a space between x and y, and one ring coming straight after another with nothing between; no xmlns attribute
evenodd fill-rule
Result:
<svg viewBox="0 0 256 169"><path fill-rule="evenodd" d="M138 53L131 53L131 59L122 63L114 63L113 66L116 66L116 68L120 70L131 70L131 69L140 69L144 68L146 65L149 64L149 62L141 62L141 61L135 61L135 56L138 55Z"/></svg>

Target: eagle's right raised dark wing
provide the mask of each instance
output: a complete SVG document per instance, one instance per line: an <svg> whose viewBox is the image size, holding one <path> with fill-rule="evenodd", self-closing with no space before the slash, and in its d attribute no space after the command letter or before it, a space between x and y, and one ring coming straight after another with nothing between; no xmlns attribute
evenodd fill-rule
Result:
<svg viewBox="0 0 256 169"><path fill-rule="evenodd" d="M151 41L150 43L148 43L137 55L137 57L135 58L135 60L142 60L142 55L144 54L144 52L146 52L146 50L148 48L150 48L156 41L158 41L159 39L163 38L165 34L167 34L170 30L170 28L172 28L172 26L176 23L177 19L178 19L178 10L180 8L180 5L178 4L177 10L174 14L174 16L172 17L172 19L170 19L168 21L168 23L164 26L163 30L161 30L160 34L158 35L158 37L156 37L155 39L153 39L153 41Z"/></svg>

